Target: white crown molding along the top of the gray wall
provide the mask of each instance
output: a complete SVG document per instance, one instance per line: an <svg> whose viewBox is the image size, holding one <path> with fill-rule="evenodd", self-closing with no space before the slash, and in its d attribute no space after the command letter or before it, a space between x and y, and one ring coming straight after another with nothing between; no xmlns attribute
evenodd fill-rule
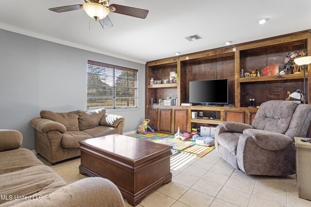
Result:
<svg viewBox="0 0 311 207"><path fill-rule="evenodd" d="M125 57L125 56L122 56L122 55L114 54L114 53L107 52L107 51L100 50L100 49L89 48L89 47L86 47L86 46L83 46L83 45L79 45L79 44L75 44L75 43L72 43L72 42L64 41L64 40L57 39L57 38L54 38L54 37L51 37L51 36L48 36L48 35L44 35L44 34L40 34L40 33L37 33L37 32L30 31L30 30L22 29L22 28L15 27L15 26L12 26L12 25L9 25L9 24L5 24L5 23L2 23L2 22L0 22L0 29L7 30L7 31L10 31L10 32L16 32L16 33L23 34L23 35L30 36L30 37L35 37L37 39L46 40L46 41L49 41L49 42L58 43L58 44L61 44L61 45L66 45L66 46L69 46L69 47L72 47L72 48L84 49L84 50L87 50L87 51L96 52L96 53L99 53L99 54L108 55L108 56L115 57L115 58L121 58L123 60L132 61L132 62L135 62L135 63L146 64L146 62L142 61L142 60L137 60L137 59Z"/></svg>

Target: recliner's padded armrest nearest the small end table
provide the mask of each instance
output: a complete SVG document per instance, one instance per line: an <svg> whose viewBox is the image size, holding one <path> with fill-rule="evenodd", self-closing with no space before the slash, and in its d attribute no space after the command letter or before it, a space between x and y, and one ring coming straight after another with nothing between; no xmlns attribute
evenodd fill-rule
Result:
<svg viewBox="0 0 311 207"><path fill-rule="evenodd" d="M283 150L293 143L289 136L272 131L245 129L243 134L251 137L256 144L266 150Z"/></svg>

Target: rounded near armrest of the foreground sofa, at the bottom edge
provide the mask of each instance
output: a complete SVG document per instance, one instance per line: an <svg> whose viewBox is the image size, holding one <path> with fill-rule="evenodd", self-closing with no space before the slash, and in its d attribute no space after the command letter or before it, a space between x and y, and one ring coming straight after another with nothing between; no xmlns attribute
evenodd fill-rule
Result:
<svg viewBox="0 0 311 207"><path fill-rule="evenodd" d="M41 200L28 200L16 207L124 207L115 184L102 177L88 177L54 191Z"/></svg>

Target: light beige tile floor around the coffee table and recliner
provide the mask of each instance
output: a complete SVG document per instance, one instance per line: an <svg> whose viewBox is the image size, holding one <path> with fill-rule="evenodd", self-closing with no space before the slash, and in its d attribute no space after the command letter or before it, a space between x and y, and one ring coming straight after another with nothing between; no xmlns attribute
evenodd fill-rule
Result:
<svg viewBox="0 0 311 207"><path fill-rule="evenodd" d="M52 166L37 157L68 184L87 177L79 174L80 158ZM311 201L298 198L295 175L245 175L216 150L203 158L174 153L171 169L172 182L148 195L138 207L311 207Z"/></svg>

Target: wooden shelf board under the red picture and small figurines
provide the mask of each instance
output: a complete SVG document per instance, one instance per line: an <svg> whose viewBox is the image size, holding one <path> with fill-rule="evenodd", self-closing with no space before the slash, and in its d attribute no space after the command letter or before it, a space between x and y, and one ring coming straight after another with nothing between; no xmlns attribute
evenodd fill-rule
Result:
<svg viewBox="0 0 311 207"><path fill-rule="evenodd" d="M308 73L306 73L306 79L308 78ZM256 82L256 81L271 81L271 80L291 80L291 79L303 79L303 73L298 74L285 74L279 76L260 76L253 78L240 78L240 82Z"/></svg>

